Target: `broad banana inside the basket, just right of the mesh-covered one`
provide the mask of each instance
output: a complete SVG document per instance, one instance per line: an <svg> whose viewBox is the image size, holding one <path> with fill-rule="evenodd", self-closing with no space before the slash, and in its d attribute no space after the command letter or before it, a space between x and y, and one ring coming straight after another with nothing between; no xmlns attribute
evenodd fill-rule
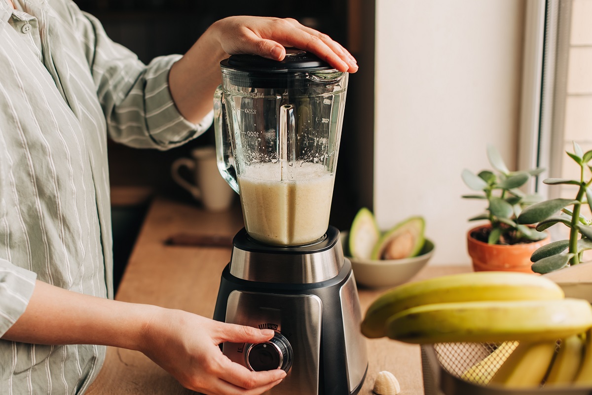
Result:
<svg viewBox="0 0 592 395"><path fill-rule="evenodd" d="M539 387L555 355L556 342L520 342L490 381L510 388Z"/></svg>

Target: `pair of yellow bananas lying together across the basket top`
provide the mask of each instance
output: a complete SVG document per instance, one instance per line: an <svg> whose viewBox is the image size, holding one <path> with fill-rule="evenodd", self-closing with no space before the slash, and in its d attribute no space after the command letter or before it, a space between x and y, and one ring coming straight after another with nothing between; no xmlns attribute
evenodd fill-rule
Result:
<svg viewBox="0 0 592 395"><path fill-rule="evenodd" d="M561 313L567 309L577 310L577 316ZM559 312L558 316L547 318L549 313L556 311ZM510 322L506 314L514 315L516 319ZM481 271L436 277L395 287L368 307L361 329L368 338L389 336L414 343L494 342L500 338L499 341L514 341L520 339L507 338L505 335L489 339L490 333L480 335L480 328L496 332L496 328L505 326L503 330L513 335L514 329L525 332L526 326L532 328L528 321L535 316L545 327L539 327L541 331L546 331L547 326L568 327L574 328L567 331L572 335L592 326L590 305L564 299L561 287L545 277ZM447 328L441 325L447 325ZM451 325L457 326L460 333L451 332ZM472 340L465 338L468 334L463 332L468 331L463 328L472 332ZM561 336L555 339L558 338Z"/></svg>

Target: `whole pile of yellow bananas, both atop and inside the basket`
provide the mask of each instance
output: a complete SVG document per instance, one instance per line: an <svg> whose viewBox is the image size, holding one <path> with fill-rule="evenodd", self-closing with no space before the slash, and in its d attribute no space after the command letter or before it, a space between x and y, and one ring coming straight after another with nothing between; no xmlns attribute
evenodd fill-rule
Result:
<svg viewBox="0 0 592 395"><path fill-rule="evenodd" d="M592 386L591 328L590 302L565 298L545 277L491 271L395 287L361 327L368 338L415 344L502 342L462 378L507 387Z"/></svg>

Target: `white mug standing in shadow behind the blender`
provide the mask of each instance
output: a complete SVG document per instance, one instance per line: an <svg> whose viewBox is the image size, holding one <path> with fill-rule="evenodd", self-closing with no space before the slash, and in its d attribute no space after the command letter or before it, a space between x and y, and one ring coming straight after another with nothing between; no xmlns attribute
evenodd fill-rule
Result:
<svg viewBox="0 0 592 395"><path fill-rule="evenodd" d="M228 210L235 193L218 171L215 147L195 148L191 156L191 159L179 158L173 162L170 169L173 180L199 200L207 211ZM181 167L194 174L194 183L179 174Z"/></svg>

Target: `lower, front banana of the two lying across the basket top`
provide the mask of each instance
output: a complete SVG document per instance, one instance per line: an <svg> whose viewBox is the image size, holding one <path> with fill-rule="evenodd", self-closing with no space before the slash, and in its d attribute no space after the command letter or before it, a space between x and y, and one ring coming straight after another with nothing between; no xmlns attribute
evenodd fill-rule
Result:
<svg viewBox="0 0 592 395"><path fill-rule="evenodd" d="M555 341L592 326L583 299L435 303L387 320L387 336L414 343Z"/></svg>

